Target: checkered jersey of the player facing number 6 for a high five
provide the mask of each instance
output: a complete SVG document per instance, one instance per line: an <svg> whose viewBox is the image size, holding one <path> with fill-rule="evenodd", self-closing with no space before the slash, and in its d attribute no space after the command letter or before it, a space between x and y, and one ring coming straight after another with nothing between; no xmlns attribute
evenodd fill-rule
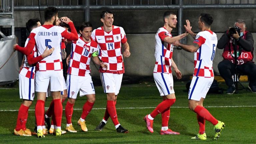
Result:
<svg viewBox="0 0 256 144"><path fill-rule="evenodd" d="M172 35L164 27L159 28L155 36L155 73L172 73L173 45L164 42L166 37L172 37Z"/></svg>

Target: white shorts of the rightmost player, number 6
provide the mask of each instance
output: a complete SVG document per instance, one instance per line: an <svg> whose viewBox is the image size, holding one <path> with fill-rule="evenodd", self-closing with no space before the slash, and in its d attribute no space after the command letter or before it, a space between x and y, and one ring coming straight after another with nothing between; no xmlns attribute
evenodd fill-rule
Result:
<svg viewBox="0 0 256 144"><path fill-rule="evenodd" d="M212 85L213 79L214 77L206 78L193 76L188 91L188 99L200 101L201 97L205 98Z"/></svg>

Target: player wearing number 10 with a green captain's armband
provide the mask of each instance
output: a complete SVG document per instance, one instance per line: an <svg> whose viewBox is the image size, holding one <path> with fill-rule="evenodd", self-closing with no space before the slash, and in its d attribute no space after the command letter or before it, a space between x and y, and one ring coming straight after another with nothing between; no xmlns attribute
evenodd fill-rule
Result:
<svg viewBox="0 0 256 144"><path fill-rule="evenodd" d="M71 118L78 91L80 96L86 95L87 97L78 124L83 131L88 131L85 118L92 110L95 101L95 89L90 75L91 56L95 64L100 65L103 69L108 68L108 65L102 63L98 58L98 44L91 38L92 24L84 22L79 30L80 37L77 41L72 42L71 54L67 58L67 64L69 64L67 71L68 101L65 114L67 119L66 130L69 132L77 132L72 125Z"/></svg>

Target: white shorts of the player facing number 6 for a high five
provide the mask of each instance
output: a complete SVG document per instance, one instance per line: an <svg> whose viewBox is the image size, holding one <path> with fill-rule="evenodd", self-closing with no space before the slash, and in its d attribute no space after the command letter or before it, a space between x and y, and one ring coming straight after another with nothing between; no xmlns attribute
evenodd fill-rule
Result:
<svg viewBox="0 0 256 144"><path fill-rule="evenodd" d="M172 74L168 73L153 73L156 86L159 90L160 96L175 93L173 89Z"/></svg>

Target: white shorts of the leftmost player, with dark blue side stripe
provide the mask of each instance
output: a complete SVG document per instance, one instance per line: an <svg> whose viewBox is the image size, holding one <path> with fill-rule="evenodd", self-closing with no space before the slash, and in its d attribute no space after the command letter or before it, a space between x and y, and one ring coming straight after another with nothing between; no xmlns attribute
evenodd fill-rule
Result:
<svg viewBox="0 0 256 144"><path fill-rule="evenodd" d="M35 80L19 74L19 91L21 99L34 100Z"/></svg>

